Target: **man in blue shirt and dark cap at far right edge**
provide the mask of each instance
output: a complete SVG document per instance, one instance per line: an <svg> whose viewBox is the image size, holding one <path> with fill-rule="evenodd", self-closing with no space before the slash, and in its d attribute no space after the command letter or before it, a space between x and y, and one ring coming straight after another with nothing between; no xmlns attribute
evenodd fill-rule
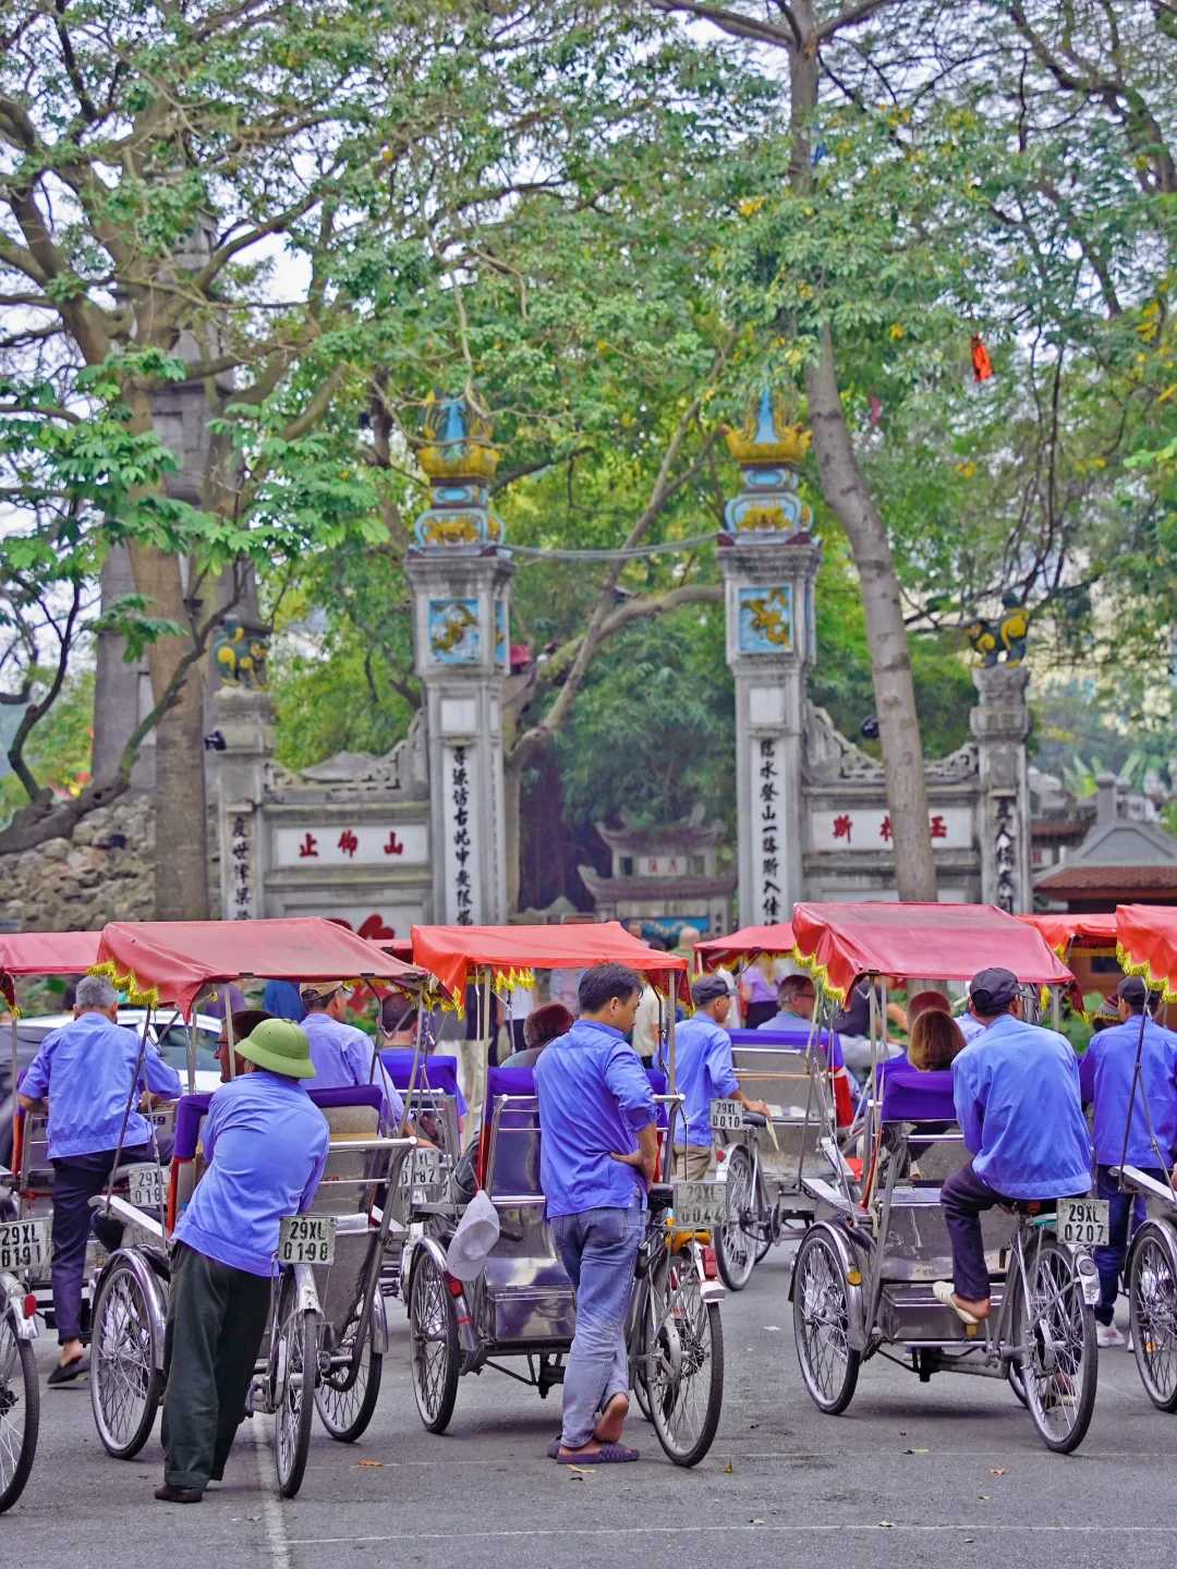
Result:
<svg viewBox="0 0 1177 1569"><path fill-rule="evenodd" d="M1121 1269L1128 1240L1146 1218L1144 1199L1136 1196L1133 1202L1130 1192L1121 1192L1111 1167L1138 1166L1164 1186L1177 1152L1177 1039L1144 1018L1144 982L1125 976L1116 987L1121 1023L1094 1034L1080 1059L1083 1103L1095 1108L1095 1191L1108 1200L1108 1246L1095 1249L1095 1338L1102 1346L1124 1345L1114 1324ZM1133 1095L1138 1048L1141 1075Z"/></svg>

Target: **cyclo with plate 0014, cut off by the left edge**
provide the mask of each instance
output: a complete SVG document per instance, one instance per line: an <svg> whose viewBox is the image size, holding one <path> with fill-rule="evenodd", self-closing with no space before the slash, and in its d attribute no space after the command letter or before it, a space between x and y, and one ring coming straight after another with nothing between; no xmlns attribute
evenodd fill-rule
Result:
<svg viewBox="0 0 1177 1569"><path fill-rule="evenodd" d="M24 1492L41 1429L41 1385L36 1376L36 1288L49 1276L49 1216L52 1192L47 1159L35 1188L28 1163L20 1159L17 1089L16 979L19 976L77 974L94 962L96 932L22 932L0 935L0 996L11 1023L8 1094L13 1105L13 1169L0 1166L0 1514ZM25 1181L20 1180L22 1166Z"/></svg>

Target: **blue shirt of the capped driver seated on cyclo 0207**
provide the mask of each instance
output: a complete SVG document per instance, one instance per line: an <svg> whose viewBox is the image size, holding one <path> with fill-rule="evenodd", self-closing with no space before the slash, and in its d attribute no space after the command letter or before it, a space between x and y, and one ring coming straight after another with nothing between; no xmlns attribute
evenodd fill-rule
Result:
<svg viewBox="0 0 1177 1569"><path fill-rule="evenodd" d="M1091 1144L1070 1042L1012 1014L953 1061L956 1120L973 1170L1011 1199L1088 1192Z"/></svg>

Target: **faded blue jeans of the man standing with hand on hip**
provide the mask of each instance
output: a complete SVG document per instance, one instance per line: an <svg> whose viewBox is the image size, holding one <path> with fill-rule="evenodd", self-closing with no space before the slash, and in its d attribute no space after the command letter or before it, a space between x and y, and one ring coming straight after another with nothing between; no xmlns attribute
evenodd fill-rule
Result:
<svg viewBox="0 0 1177 1569"><path fill-rule="evenodd" d="M579 1450L593 1436L596 1414L629 1390L625 1320L645 1210L601 1208L556 1214L556 1249L576 1291L576 1335L563 1373L560 1442Z"/></svg>

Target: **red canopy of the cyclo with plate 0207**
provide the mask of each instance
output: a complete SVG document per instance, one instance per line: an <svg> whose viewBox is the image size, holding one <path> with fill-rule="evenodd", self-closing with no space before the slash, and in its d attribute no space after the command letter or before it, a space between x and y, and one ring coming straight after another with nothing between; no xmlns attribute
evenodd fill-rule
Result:
<svg viewBox="0 0 1177 1569"><path fill-rule="evenodd" d="M992 904L794 904L793 930L797 962L841 999L860 974L970 981L987 965L1075 984L1033 926Z"/></svg>

